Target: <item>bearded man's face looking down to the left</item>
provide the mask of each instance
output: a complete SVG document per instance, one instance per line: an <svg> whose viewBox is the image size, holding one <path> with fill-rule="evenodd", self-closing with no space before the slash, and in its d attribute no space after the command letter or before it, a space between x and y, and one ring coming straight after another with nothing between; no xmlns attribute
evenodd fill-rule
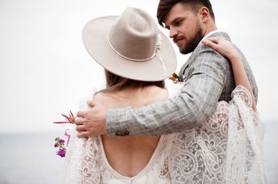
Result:
<svg viewBox="0 0 278 184"><path fill-rule="evenodd" d="M181 3L175 4L165 16L165 28L170 30L170 38L182 54L193 52L204 37L198 16Z"/></svg>

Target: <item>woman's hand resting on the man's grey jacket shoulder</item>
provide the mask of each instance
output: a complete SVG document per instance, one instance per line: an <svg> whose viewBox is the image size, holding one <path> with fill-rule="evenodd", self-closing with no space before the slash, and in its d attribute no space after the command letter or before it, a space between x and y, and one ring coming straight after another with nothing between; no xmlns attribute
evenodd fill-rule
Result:
<svg viewBox="0 0 278 184"><path fill-rule="evenodd" d="M223 37L209 37L208 39L203 40L202 43L213 48L218 53L220 53L220 55L227 57L230 62L232 62L236 58L240 58L238 51L236 51L231 43Z"/></svg>

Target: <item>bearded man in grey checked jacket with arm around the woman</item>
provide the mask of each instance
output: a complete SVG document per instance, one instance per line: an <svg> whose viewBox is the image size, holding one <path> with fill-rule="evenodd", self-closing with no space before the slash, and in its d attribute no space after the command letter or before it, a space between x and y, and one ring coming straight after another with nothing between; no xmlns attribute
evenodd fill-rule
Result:
<svg viewBox="0 0 278 184"><path fill-rule="evenodd" d="M123 109L108 109L92 100L88 102L92 110L77 113L81 117L76 120L80 138L100 134L115 138L183 131L204 122L215 111L218 101L231 100L235 84L229 61L202 44L202 40L217 36L230 41L229 35L216 27L210 1L161 0L157 18L161 26L170 30L170 38L180 53L192 53L179 72L183 81L180 95L147 107ZM258 90L251 68L243 53L234 47L241 55L257 100Z"/></svg>

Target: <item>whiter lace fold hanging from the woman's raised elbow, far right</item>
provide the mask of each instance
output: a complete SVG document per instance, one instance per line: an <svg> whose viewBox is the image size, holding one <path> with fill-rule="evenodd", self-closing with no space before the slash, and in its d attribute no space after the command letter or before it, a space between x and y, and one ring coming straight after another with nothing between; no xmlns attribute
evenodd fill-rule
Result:
<svg viewBox="0 0 278 184"><path fill-rule="evenodd" d="M252 111L252 96L236 86L229 102L226 181L228 183L267 183L263 159L265 128Z"/></svg>

